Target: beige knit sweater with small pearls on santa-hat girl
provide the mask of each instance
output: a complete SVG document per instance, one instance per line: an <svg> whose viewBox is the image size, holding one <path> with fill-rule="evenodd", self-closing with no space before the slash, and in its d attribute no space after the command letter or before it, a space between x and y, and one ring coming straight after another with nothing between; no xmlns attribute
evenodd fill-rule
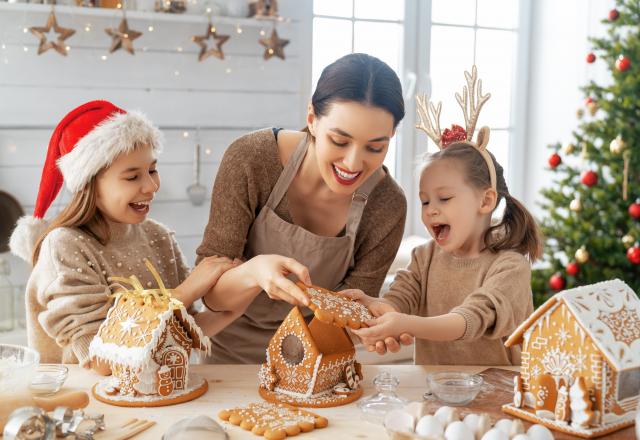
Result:
<svg viewBox="0 0 640 440"><path fill-rule="evenodd" d="M145 220L137 225L110 223L106 246L77 228L53 230L42 242L27 283L27 336L40 361L86 365L89 344L111 306L107 278L135 275L144 286L156 281L144 265L148 258L167 288L189 274L173 232Z"/></svg>

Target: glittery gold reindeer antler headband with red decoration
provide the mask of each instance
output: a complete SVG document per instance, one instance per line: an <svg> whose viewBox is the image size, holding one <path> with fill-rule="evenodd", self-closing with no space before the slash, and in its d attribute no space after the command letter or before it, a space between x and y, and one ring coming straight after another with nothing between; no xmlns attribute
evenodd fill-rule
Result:
<svg viewBox="0 0 640 440"><path fill-rule="evenodd" d="M440 112L442 111L442 102L439 102L438 105L434 106L426 95L416 97L418 104L418 119L420 120L420 123L416 125L416 128L427 133L427 135L441 150L447 148L447 146L452 142L468 142L469 145L478 150L485 162L487 162L489 176L491 178L491 187L497 192L496 168L493 165L493 160L491 160L489 152L487 151L487 144L489 143L489 127L482 127L479 130L477 142L473 142L471 140L476 128L476 123L478 122L480 109L491 97L491 94L482 94L482 80L478 79L478 70L476 69L476 66L473 66L471 69L471 74L469 74L469 72L464 72L464 77L467 80L467 85L462 89L462 96L460 96L459 93L456 93L456 101L458 101L458 104L462 108L465 128L453 124L451 129L445 128L444 132L442 132L440 130Z"/></svg>

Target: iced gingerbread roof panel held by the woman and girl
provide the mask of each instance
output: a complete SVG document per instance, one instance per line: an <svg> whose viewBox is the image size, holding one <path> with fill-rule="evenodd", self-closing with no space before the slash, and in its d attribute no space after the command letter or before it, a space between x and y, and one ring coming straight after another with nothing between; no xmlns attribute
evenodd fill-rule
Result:
<svg viewBox="0 0 640 440"><path fill-rule="evenodd" d="M357 301L322 287L297 284L309 296L309 308L322 322L359 329L367 326L365 321L373 319L369 309Z"/></svg>

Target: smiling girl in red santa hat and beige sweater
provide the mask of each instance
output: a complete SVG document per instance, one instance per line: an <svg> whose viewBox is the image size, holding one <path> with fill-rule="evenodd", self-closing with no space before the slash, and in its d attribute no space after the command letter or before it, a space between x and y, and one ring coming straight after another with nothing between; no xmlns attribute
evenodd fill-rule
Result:
<svg viewBox="0 0 640 440"><path fill-rule="evenodd" d="M160 187L160 150L160 131L144 115L107 101L81 105L55 128L34 215L20 219L11 237L13 253L33 265L27 336L42 362L78 362L106 372L88 353L111 306L109 277L135 275L155 286L145 258L186 307L236 264L214 256L190 273L174 233L147 218ZM63 183L71 200L45 221ZM208 312L196 321L213 334L236 316Z"/></svg>

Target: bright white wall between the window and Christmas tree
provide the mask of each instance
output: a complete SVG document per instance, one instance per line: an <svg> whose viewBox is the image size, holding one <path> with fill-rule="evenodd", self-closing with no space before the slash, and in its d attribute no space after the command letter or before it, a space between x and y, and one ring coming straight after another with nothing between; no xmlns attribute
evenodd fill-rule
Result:
<svg viewBox="0 0 640 440"><path fill-rule="evenodd" d="M609 78L602 61L587 64L585 58L591 52L588 37L606 34L600 20L614 6L613 0L532 1L524 202L536 215L542 214L536 205L540 189L552 176L546 146L572 141L576 110L586 110L580 87Z"/></svg>

